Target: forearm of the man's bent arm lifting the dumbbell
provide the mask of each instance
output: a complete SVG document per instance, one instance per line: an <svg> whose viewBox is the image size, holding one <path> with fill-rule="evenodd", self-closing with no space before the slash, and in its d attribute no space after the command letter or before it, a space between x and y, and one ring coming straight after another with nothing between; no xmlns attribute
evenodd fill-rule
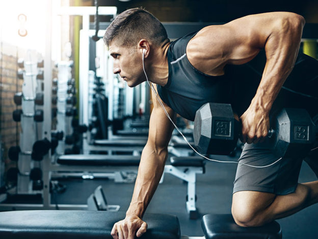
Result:
<svg viewBox="0 0 318 239"><path fill-rule="evenodd" d="M292 71L299 51L304 20L301 16L283 18L268 37L264 49L267 62L251 105L269 113Z"/></svg>

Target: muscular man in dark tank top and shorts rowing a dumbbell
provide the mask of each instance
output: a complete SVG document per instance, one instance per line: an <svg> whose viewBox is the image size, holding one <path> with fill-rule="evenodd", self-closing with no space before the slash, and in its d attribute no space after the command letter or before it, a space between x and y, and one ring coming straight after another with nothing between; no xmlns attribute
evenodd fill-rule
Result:
<svg viewBox="0 0 318 239"><path fill-rule="evenodd" d="M267 165L277 160L264 140L275 112L293 106L312 116L318 113L317 61L298 56L304 23L294 13L256 14L170 42L161 22L136 8L116 17L104 42L114 58L114 74L130 87L146 81L144 58L148 79L172 119L178 113L194 120L206 102L231 103L247 143L239 160ZM113 227L114 238L133 239L147 229L142 217L163 174L173 130L155 97L153 105L133 198L126 218ZM235 222L260 226L316 203L318 181L298 184L302 160L283 158L263 169L239 165L232 201ZM318 176L317 158L307 161Z"/></svg>

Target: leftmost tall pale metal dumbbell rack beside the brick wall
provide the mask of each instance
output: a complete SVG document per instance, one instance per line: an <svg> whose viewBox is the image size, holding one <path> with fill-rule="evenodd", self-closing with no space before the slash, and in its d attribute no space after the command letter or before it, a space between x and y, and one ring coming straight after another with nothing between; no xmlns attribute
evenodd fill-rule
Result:
<svg viewBox="0 0 318 239"><path fill-rule="evenodd" d="M22 73L22 94L21 94L21 132L20 132L20 153L18 157L17 194L38 194L41 192L41 182L39 187L34 187L34 181L30 179L31 170L41 169L40 162L32 160L33 144L42 138L43 122L43 71L38 66L43 67L43 63L19 60L19 66L24 70L19 70L20 78ZM41 181L41 180L40 180Z"/></svg>

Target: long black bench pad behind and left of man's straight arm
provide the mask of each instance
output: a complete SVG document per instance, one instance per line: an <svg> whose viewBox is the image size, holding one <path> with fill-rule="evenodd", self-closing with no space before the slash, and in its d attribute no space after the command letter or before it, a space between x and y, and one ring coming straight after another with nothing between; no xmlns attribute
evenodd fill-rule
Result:
<svg viewBox="0 0 318 239"><path fill-rule="evenodd" d="M140 156L104 154L67 154L57 160L66 165L138 166Z"/></svg>

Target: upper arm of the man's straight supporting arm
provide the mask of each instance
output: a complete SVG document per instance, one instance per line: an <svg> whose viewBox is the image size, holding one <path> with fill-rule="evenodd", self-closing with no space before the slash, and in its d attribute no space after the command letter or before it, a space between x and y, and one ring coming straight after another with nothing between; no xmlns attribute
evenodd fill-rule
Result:
<svg viewBox="0 0 318 239"><path fill-rule="evenodd" d="M167 148L174 126L166 115L163 107L158 103L154 93L152 93L153 109L149 121L149 135L147 144L156 149ZM163 102L162 102L163 103ZM175 121L174 111L163 103L171 120Z"/></svg>

